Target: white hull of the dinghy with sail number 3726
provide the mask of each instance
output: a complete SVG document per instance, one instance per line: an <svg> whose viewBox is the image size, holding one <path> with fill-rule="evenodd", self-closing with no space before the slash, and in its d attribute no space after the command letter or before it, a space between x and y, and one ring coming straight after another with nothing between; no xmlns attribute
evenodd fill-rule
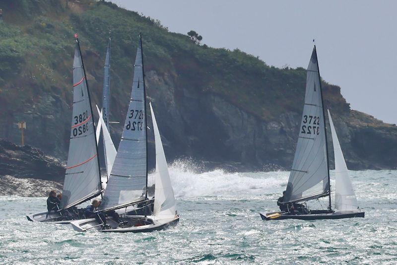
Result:
<svg viewBox="0 0 397 265"><path fill-rule="evenodd" d="M127 215L123 217L123 220L128 221L123 227L119 226L112 217L107 217L106 222L111 229L102 229L102 225L99 224L95 218L81 219L70 222L73 229L79 232L87 230L97 230L99 232L117 232L117 233L139 233L139 232L151 232L155 230L162 230L170 225L179 222L179 216L176 215L173 218L158 219L156 216L142 216L142 215ZM142 221L146 224L142 225Z"/></svg>

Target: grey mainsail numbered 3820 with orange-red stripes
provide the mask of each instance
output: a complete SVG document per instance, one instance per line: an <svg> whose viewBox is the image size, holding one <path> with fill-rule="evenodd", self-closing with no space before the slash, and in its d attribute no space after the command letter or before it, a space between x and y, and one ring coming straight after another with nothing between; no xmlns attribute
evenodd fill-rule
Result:
<svg viewBox="0 0 397 265"><path fill-rule="evenodd" d="M87 83L76 43L73 61L73 111L62 196L68 208L101 193L101 179Z"/></svg>

